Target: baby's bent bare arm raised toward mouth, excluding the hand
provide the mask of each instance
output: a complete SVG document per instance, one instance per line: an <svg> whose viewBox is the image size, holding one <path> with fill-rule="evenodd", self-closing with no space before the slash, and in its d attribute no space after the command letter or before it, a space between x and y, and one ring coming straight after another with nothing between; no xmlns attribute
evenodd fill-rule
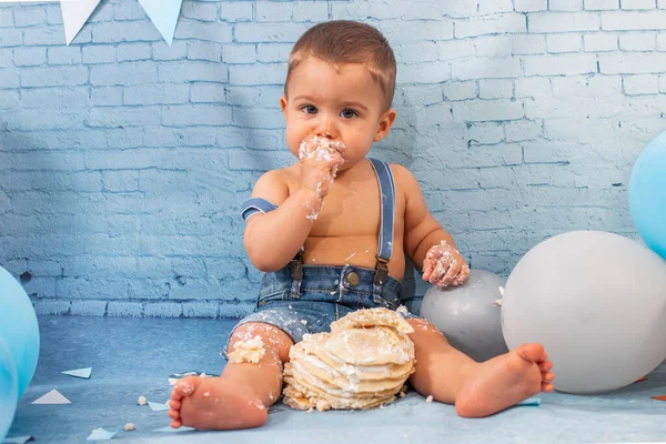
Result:
<svg viewBox="0 0 666 444"><path fill-rule="evenodd" d="M245 250L252 264L264 272L282 269L296 255L312 229L310 206L321 206L321 198L313 191L299 189L290 195L284 174L269 171L252 191L253 198L279 205L269 213L250 216L245 224Z"/></svg>

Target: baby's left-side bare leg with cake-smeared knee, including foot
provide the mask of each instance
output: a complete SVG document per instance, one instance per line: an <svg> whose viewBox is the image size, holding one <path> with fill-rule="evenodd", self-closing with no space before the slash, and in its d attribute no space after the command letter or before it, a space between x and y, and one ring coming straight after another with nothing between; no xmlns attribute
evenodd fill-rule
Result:
<svg viewBox="0 0 666 444"><path fill-rule="evenodd" d="M169 416L174 428L234 430L263 425L268 407L282 390L282 364L293 345L282 330L263 323L239 326L229 350L236 341L261 336L265 353L256 363L228 363L220 377L189 376L171 392Z"/></svg>

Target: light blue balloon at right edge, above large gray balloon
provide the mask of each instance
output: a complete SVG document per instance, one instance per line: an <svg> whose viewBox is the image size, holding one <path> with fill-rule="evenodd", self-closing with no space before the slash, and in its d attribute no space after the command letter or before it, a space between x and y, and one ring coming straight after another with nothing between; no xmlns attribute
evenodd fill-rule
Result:
<svg viewBox="0 0 666 444"><path fill-rule="evenodd" d="M634 164L629 210L645 244L666 259L666 132L649 142Z"/></svg>

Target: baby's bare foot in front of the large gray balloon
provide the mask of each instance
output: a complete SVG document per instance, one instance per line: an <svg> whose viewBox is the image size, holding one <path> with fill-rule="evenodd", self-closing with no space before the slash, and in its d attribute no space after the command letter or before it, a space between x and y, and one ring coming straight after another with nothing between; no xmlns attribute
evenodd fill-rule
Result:
<svg viewBox="0 0 666 444"><path fill-rule="evenodd" d="M524 344L480 364L461 386L455 410L461 416L482 417L501 412L536 393L551 392L551 373L543 345Z"/></svg>

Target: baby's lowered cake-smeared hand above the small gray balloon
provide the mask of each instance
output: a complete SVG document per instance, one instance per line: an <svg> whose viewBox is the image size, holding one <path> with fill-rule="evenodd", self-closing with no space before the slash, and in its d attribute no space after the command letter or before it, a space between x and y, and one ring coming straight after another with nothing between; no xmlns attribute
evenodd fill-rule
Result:
<svg viewBox="0 0 666 444"><path fill-rule="evenodd" d="M423 261L423 280L431 284L447 286L462 285L470 276L470 265L461 253L442 241L431 248Z"/></svg>

